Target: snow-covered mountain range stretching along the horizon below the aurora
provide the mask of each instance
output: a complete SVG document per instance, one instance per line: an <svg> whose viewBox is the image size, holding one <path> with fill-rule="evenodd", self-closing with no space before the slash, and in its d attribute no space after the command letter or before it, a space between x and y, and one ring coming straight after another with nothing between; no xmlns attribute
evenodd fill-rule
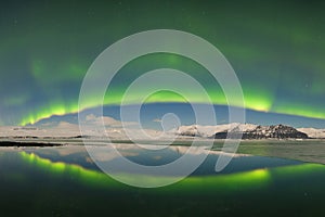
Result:
<svg viewBox="0 0 325 217"><path fill-rule="evenodd" d="M87 138L106 138L112 140L128 140L129 133L126 129L116 123L113 125L109 120L105 131L99 131L92 125L89 126L83 136ZM130 125L132 127L134 125ZM325 129L314 128L298 128L295 129L289 126L275 125L275 126L259 126L252 124L225 124L216 126L180 126L177 129L162 132L152 129L131 128L132 139L150 139L150 140L170 140L170 139L186 139L188 137L200 138L226 138L227 133L236 138L243 136L243 139L265 139L265 138L315 138L325 139ZM0 127L0 138L24 139L24 138L75 138L80 137L79 126L70 123L57 123L55 125L41 125L29 127L14 127L2 126Z"/></svg>

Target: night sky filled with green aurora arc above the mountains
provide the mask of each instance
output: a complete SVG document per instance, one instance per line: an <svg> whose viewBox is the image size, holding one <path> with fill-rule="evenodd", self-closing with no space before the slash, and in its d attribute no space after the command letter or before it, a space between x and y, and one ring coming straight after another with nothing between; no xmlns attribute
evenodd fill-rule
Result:
<svg viewBox="0 0 325 217"><path fill-rule="evenodd" d="M139 31L178 29L206 39L227 59L244 91L247 122L325 127L324 9L323 1L280 0L6 2L0 8L0 125L76 114L83 76L103 50ZM105 105L118 105L133 79L161 67L187 73L216 106L226 105L209 72L167 53L125 65ZM133 94L136 102L141 91ZM193 94L193 103L204 103ZM147 102L157 110L184 99L158 92Z"/></svg>

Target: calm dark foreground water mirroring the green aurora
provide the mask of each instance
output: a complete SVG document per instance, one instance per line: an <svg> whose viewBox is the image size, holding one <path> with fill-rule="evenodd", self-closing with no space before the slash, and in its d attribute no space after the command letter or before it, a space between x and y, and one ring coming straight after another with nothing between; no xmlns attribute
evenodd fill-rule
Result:
<svg viewBox="0 0 325 217"><path fill-rule="evenodd" d="M160 165L177 158L182 149L166 149L157 156L128 148L123 155L133 162ZM324 165L243 155L216 174L217 158L218 153L211 153L192 176L172 186L140 189L101 173L82 146L2 149L0 215L325 215Z"/></svg>

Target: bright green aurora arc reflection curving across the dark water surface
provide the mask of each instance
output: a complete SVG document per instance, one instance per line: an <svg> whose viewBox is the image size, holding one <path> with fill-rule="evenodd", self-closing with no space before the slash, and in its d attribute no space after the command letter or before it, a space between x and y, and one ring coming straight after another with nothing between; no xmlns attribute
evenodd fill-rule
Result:
<svg viewBox="0 0 325 217"><path fill-rule="evenodd" d="M42 158L34 153L20 152L22 159L29 165L36 166L42 171L57 176L73 176L75 180L88 186L96 186L104 188L122 188L123 184L118 183L107 175L86 169L79 165L66 164L63 162L52 162ZM317 164L302 164L295 166L283 166L272 169L255 169L244 173L234 173L230 175L216 176L194 176L187 177L182 181L162 189L172 191L235 191L268 188L278 177L281 178L299 178L309 176L312 173L324 173L325 166ZM168 177L150 177L145 175L121 175L128 176L130 179L146 179L155 182L157 179L168 179Z"/></svg>

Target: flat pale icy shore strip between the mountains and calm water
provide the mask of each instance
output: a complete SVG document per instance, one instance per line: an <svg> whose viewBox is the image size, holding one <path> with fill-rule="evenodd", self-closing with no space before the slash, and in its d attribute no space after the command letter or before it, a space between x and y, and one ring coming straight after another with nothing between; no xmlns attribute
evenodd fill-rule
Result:
<svg viewBox="0 0 325 217"><path fill-rule="evenodd" d="M173 141L169 146L191 146L192 139L182 139ZM204 143L207 140L203 140ZM95 144L105 143L105 140L89 140ZM134 142L129 140L106 141L107 144L132 145ZM222 151L224 140L214 140L212 151ZM144 145L164 145L161 141L141 141ZM26 140L0 140L0 148L60 148L60 146L82 146L82 139L60 138L60 139L26 139ZM236 154L249 154L255 156L278 157L287 159L297 159L306 163L325 164L325 140L306 139L306 140L242 140ZM1 150L0 150L1 151Z"/></svg>

